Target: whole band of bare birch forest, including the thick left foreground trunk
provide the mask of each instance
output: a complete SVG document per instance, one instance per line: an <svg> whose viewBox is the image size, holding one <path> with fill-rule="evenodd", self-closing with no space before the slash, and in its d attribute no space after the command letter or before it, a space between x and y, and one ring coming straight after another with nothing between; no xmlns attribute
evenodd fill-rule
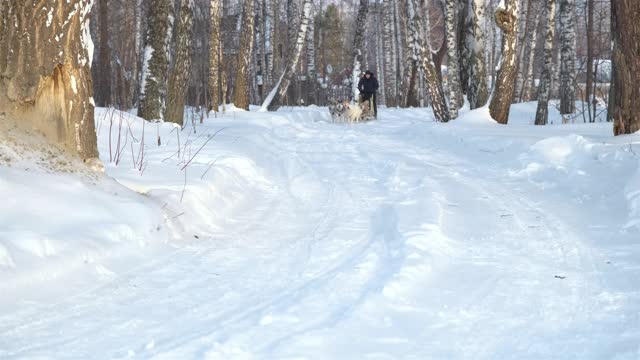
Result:
<svg viewBox="0 0 640 360"><path fill-rule="evenodd" d="M504 124L538 100L536 124L555 104L628 134L639 13L637 0L7 0L0 111L92 158L94 100L182 124L185 106L352 99L370 69L380 104L432 106L438 121L466 99Z"/></svg>

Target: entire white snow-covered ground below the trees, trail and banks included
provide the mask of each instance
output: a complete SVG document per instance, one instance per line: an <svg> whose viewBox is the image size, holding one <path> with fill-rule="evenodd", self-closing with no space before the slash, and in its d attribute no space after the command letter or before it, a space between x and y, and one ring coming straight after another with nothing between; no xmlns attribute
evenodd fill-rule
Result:
<svg viewBox="0 0 640 360"><path fill-rule="evenodd" d="M638 359L640 135L534 113L0 138L0 358Z"/></svg>

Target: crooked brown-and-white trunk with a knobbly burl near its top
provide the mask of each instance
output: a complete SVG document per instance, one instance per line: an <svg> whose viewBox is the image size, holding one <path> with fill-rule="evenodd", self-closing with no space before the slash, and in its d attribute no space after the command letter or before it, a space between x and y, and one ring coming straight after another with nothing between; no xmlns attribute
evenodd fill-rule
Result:
<svg viewBox="0 0 640 360"><path fill-rule="evenodd" d="M502 59L494 87L489 114L500 124L509 121L509 110L513 102L518 59L518 0L501 0L496 9L496 24L502 30Z"/></svg>

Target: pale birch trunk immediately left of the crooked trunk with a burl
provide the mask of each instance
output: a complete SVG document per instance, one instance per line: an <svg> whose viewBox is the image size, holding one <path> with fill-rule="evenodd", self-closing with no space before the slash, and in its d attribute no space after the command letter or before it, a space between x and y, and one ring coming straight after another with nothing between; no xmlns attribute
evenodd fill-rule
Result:
<svg viewBox="0 0 640 360"><path fill-rule="evenodd" d="M487 68L484 60L485 34L484 24L486 4L484 0L472 0L473 45L469 64L469 105L471 109L484 106L489 99L487 87Z"/></svg>

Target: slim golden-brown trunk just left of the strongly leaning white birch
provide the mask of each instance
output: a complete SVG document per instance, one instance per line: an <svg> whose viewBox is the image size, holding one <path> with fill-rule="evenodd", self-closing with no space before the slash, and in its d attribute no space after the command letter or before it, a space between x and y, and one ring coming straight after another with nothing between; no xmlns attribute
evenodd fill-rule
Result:
<svg viewBox="0 0 640 360"><path fill-rule="evenodd" d="M238 52L236 81L234 86L233 103L237 108L249 110L249 67L253 52L254 1L245 0L242 13L244 25L240 34L240 51Z"/></svg>

